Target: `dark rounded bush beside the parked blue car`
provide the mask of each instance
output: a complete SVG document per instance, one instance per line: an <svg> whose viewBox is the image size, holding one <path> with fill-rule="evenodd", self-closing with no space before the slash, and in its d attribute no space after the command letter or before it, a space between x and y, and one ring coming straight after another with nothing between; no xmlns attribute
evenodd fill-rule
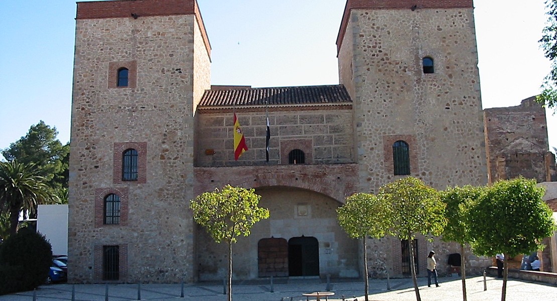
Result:
<svg viewBox="0 0 557 301"><path fill-rule="evenodd" d="M0 245L0 295L32 290L45 283L51 264L52 247L45 236L20 229Z"/></svg>

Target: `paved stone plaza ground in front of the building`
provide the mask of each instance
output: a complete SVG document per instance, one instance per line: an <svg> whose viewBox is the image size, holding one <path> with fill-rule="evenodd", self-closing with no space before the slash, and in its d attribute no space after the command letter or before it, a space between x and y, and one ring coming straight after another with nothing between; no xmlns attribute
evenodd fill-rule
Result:
<svg viewBox="0 0 557 301"><path fill-rule="evenodd" d="M423 301L455 301L462 300L462 282L460 278L439 278L440 287L427 287L427 278L418 278L419 292ZM501 300L502 280L486 278L487 290L483 290L483 277L473 277L466 281L468 301L499 301ZM416 300L412 279L391 279L390 290L387 280L370 280L370 301L413 301ZM268 280L251 283L234 283L232 299L234 301L300 301L306 300L302 293L324 291L326 282L323 279L275 279L274 292ZM36 300L71 300L71 284L42 285L36 290ZM226 301L223 285L218 283L195 283L184 285L184 297L180 298L180 284L141 284L141 300L184 300L184 301ZM346 282L332 279L330 290L335 292L331 301L364 300L364 283ZM138 300L137 284L108 285L110 301ZM75 300L104 301L106 285L79 284L75 285ZM33 292L23 292L0 296L0 301L32 301ZM557 287L544 283L524 282L509 279L507 282L507 301L557 300Z"/></svg>

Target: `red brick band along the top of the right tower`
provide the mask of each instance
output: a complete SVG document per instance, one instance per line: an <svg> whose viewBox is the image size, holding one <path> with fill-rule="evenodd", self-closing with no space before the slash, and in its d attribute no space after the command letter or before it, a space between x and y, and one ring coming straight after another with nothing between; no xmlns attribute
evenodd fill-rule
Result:
<svg viewBox="0 0 557 301"><path fill-rule="evenodd" d="M344 7L343 20L340 22L336 38L337 53L343 43L344 33L352 9L416 9L423 8L474 8L472 0L348 0Z"/></svg>

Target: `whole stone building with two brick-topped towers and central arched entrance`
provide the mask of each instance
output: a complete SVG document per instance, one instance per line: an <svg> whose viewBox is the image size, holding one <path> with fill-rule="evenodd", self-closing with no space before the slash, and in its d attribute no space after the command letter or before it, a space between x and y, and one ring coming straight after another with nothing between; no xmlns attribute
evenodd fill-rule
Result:
<svg viewBox="0 0 557 301"><path fill-rule="evenodd" d="M211 86L196 0L77 3L70 282L223 279L226 247L188 206L226 184L271 212L234 246L234 279L361 277L364 250L336 222L346 196L407 175L487 183L472 0L348 0L336 45L339 85ZM370 239L370 276L408 275L409 243ZM434 249L450 273L458 246L413 243L418 272ZM489 263L472 255L469 273Z"/></svg>

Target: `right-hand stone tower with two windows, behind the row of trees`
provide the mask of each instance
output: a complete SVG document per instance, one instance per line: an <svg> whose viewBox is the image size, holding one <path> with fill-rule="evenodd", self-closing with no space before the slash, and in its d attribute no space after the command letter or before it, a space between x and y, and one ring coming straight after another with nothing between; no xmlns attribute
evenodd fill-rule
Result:
<svg viewBox="0 0 557 301"><path fill-rule="evenodd" d="M486 184L472 0L348 0L337 47L354 106L358 191L407 175L436 189ZM417 258L430 248L451 253L419 239ZM400 241L370 249L369 263L386 259L404 273Z"/></svg>

